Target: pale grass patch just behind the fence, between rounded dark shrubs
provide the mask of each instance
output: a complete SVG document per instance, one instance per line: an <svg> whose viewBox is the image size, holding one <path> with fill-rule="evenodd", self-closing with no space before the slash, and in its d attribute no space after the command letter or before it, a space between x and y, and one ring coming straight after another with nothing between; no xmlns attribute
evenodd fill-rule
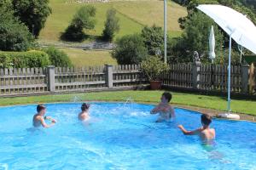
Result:
<svg viewBox="0 0 256 170"><path fill-rule="evenodd" d="M61 48L71 59L73 65L77 67L85 65L117 65L115 59L108 50L83 50L78 48Z"/></svg>

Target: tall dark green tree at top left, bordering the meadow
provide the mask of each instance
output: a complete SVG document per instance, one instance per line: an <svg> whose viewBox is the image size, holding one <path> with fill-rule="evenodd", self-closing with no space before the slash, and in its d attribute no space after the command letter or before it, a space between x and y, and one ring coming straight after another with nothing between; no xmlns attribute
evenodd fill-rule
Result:
<svg viewBox="0 0 256 170"><path fill-rule="evenodd" d="M15 16L23 22L29 31L38 37L51 8L49 8L49 0L13 0Z"/></svg>

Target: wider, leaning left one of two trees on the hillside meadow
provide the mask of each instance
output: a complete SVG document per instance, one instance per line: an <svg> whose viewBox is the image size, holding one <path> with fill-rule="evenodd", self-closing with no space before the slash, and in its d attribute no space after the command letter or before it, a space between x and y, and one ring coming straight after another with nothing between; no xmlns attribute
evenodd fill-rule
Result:
<svg viewBox="0 0 256 170"><path fill-rule="evenodd" d="M70 25L67 27L61 38L69 41L84 40L84 29L90 30L95 27L95 15L96 8L94 6L88 5L79 8L79 11L74 14L73 20L71 21Z"/></svg>

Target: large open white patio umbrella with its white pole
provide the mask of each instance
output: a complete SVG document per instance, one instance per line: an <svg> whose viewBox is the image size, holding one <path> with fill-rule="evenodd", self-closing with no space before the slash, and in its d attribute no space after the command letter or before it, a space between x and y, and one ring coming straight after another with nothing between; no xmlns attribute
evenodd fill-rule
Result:
<svg viewBox="0 0 256 170"><path fill-rule="evenodd" d="M229 75L228 75L228 111L230 112L230 64L232 38L242 47L256 54L256 27L251 20L236 10L222 5L199 5L197 7L211 17L230 35Z"/></svg>

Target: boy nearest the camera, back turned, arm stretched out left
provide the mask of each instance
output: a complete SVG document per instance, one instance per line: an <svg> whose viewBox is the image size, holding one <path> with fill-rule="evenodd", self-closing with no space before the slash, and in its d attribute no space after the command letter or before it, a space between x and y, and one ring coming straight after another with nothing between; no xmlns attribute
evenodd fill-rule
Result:
<svg viewBox="0 0 256 170"><path fill-rule="evenodd" d="M183 125L178 125L178 127L181 129L181 131L185 135L199 135L202 141L209 143L213 139L215 139L215 129L210 128L211 122L212 122L212 116L209 116L207 114L202 114L201 115L202 127L195 129L193 131L187 131L183 127Z"/></svg>

